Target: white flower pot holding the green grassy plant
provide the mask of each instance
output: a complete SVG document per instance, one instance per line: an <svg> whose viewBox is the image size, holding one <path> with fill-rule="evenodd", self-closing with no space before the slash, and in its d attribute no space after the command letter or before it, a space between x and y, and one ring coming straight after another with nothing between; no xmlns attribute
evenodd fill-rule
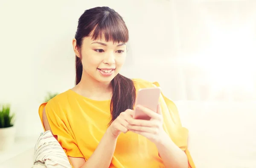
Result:
<svg viewBox="0 0 256 168"><path fill-rule="evenodd" d="M0 128L0 151L8 150L14 145L15 127Z"/></svg>

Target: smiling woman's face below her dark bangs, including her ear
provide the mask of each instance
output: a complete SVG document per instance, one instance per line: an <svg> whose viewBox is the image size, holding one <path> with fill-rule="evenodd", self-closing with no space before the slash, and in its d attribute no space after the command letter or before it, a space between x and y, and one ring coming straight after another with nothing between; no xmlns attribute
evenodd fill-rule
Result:
<svg viewBox="0 0 256 168"><path fill-rule="evenodd" d="M83 75L89 75L99 82L110 82L125 63L126 43L85 37L80 50L76 46L76 39L73 40L73 47L81 58Z"/></svg>

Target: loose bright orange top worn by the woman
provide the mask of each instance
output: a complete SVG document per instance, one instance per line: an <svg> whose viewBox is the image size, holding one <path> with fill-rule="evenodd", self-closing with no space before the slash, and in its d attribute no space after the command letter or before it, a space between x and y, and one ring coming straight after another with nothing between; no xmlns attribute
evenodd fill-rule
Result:
<svg viewBox="0 0 256 168"><path fill-rule="evenodd" d="M133 79L136 90L159 87L142 79ZM189 168L195 168L187 150L188 130L183 128L175 104L163 94L160 97L163 127L174 143L185 151ZM85 160L93 154L107 125L111 120L110 101L95 101L81 96L73 90L67 90L48 103L41 104L39 115L45 107L46 116L52 133L58 135L58 142L70 157L83 157ZM117 139L110 168L164 168L163 160L158 156L157 147L147 138L133 132L121 133Z"/></svg>

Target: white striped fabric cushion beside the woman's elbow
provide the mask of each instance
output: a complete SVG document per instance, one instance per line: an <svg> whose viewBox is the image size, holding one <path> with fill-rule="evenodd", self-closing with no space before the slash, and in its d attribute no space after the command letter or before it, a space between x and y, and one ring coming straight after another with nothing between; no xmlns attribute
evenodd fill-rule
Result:
<svg viewBox="0 0 256 168"><path fill-rule="evenodd" d="M35 144L32 168L72 168L63 148L50 131L42 132Z"/></svg>

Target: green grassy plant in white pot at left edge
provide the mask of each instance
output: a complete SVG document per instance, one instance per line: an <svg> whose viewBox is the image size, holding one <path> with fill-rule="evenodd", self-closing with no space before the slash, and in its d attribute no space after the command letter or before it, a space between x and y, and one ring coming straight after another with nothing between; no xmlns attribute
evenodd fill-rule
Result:
<svg viewBox="0 0 256 168"><path fill-rule="evenodd" d="M6 150L14 144L14 116L14 113L11 114L9 104L0 106L0 150Z"/></svg>

